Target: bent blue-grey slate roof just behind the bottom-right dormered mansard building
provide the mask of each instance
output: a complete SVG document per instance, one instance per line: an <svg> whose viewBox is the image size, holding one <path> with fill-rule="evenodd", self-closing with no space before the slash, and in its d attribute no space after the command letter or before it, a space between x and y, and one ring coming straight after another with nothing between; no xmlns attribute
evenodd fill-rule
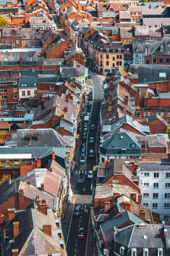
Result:
<svg viewBox="0 0 170 256"><path fill-rule="evenodd" d="M104 223L102 223L100 225L100 227L101 227L102 232L105 233L111 227L118 228L118 227L124 225L125 223L127 223L128 221L132 221L134 224L141 223L141 219L139 219L136 215L132 214L129 211L124 211L124 212L122 212L122 214L120 214L120 216L117 216L113 220L104 221Z"/></svg>

